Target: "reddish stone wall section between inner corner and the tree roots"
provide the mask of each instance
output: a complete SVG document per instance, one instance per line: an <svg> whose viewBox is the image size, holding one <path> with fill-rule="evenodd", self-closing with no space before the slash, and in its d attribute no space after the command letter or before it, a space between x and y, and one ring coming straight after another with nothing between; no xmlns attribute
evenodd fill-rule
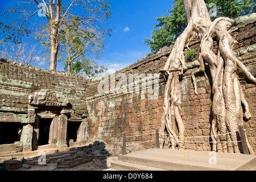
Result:
<svg viewBox="0 0 256 182"><path fill-rule="evenodd" d="M162 68L159 65L163 66L167 59L164 56L166 53L153 55L115 73L115 75L111 76L112 78L109 77L108 84L113 79L116 85L115 88L117 88L118 83L123 80L123 77L119 81L115 80L119 73L126 75L127 84L129 83L129 74L135 76L136 73L138 75L146 73L145 78L147 78L148 73L156 75ZM152 79L153 88L156 81L159 81L159 88L157 88L159 90L158 92L156 90L156 94L159 94L159 97L152 97L152 93L148 93L147 89L142 90L142 88L139 89L139 93L135 93L135 82L130 82L131 84L127 86L127 91L129 91L129 87L133 88L133 92L130 93L112 93L109 86L109 92L95 94L100 81L88 82L87 90L93 91L86 92L90 138L100 138L106 143L120 146L123 132L127 136L155 132L155 129L160 127L165 84L163 77L160 77L159 80ZM139 82L140 87L142 87L142 82L143 80ZM148 97L151 97L151 99ZM147 137L138 137L130 140L139 141L145 138Z"/></svg>

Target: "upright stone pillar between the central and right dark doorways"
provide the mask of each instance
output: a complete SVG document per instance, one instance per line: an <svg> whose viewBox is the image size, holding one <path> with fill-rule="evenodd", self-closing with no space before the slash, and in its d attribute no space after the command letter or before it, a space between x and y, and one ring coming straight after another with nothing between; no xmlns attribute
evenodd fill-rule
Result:
<svg viewBox="0 0 256 182"><path fill-rule="evenodd" d="M61 114L58 117L58 132L57 132L57 144L59 147L68 147L67 145L67 124L68 117L65 114Z"/></svg>

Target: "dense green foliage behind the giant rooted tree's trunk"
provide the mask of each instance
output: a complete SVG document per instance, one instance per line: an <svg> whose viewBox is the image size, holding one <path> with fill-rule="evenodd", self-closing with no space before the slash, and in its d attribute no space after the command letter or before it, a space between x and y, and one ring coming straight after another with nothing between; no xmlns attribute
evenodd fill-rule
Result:
<svg viewBox="0 0 256 182"><path fill-rule="evenodd" d="M250 14L255 7L254 0L205 0L208 11L213 10L210 3L215 3L217 11L213 13L211 19L224 16L229 18L237 18L237 16ZM158 52L160 48L175 43L177 37L187 27L187 19L185 15L182 0L174 0L174 6L167 11L168 15L157 18L158 24L154 26L151 39L144 38L144 44L150 47L151 52Z"/></svg>

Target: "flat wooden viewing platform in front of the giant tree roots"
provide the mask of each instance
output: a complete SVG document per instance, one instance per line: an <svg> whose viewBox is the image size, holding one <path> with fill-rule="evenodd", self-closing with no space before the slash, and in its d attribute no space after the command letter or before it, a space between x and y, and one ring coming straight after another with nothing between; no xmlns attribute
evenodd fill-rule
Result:
<svg viewBox="0 0 256 182"><path fill-rule="evenodd" d="M216 157L216 158L215 158ZM111 162L111 170L121 171L249 171L255 170L256 156L245 154L209 153L152 148L119 155Z"/></svg>

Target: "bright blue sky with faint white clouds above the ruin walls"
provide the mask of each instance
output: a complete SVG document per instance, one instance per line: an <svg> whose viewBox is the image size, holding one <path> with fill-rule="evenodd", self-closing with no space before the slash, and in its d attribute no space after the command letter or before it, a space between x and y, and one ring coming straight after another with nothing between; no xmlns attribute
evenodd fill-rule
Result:
<svg viewBox="0 0 256 182"><path fill-rule="evenodd" d="M17 2L20 0L0 0L0 7L4 10ZM107 21L107 27L112 29L112 36L105 37L106 49L96 61L107 67L108 72L113 72L141 60L150 53L148 46L143 43L144 38L151 37L152 27L156 25L156 17L168 14L167 10L172 9L174 2L171 0L106 0L106 2L109 2L112 11L112 17ZM33 39L26 41L36 43ZM42 61L37 66L41 69L49 69L49 61ZM63 71L62 63L57 63L57 70Z"/></svg>

